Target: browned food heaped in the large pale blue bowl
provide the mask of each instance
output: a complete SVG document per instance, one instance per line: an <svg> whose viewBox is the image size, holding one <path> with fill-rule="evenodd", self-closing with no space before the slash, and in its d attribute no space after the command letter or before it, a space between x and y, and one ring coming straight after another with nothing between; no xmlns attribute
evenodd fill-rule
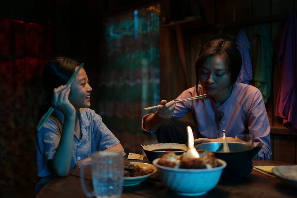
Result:
<svg viewBox="0 0 297 198"><path fill-rule="evenodd" d="M185 168L185 169L203 169L214 168L220 166L218 159L214 153L205 151L203 149L197 150L200 158L182 159L182 155L178 156L175 153L166 153L161 156L158 164L161 166L172 168Z"/></svg>

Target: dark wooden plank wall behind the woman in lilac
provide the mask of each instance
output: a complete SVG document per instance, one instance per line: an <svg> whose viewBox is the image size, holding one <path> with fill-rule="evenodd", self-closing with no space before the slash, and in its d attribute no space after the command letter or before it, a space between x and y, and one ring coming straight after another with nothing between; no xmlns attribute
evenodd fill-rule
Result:
<svg viewBox="0 0 297 198"><path fill-rule="evenodd" d="M271 96L266 110L271 123L272 160L297 163L297 132L288 131L282 119L274 116L279 89L280 68L277 54L282 32L296 0L200 0L161 1L160 88L161 99L172 100L196 83L195 61L201 46L216 36L236 40L243 29L251 43L250 56L255 74L257 60L256 32L266 26L274 47ZM197 16L187 20L187 16ZM163 19L163 20L162 20ZM170 23L169 23L170 22ZM223 25L223 29L222 28ZM222 34L219 34L222 30ZM191 115L181 119L193 124Z"/></svg>

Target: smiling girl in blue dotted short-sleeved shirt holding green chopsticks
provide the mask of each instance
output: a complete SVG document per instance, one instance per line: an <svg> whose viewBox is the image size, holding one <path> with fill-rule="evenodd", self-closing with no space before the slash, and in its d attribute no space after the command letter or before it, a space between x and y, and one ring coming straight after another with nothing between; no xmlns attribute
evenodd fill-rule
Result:
<svg viewBox="0 0 297 198"><path fill-rule="evenodd" d="M55 110L37 134L37 169L41 181L36 191L57 176L67 176L81 161L90 160L93 152L124 151L102 118L89 109L92 88L85 69L80 69L71 85L65 85L78 67L77 61L58 57L43 70L43 86L48 96L40 115L50 106Z"/></svg>

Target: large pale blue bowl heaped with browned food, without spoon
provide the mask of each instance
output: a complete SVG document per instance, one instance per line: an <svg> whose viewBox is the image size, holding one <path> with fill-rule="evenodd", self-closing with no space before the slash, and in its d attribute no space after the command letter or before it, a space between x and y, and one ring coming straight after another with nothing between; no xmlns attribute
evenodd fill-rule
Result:
<svg viewBox="0 0 297 198"><path fill-rule="evenodd" d="M226 162L213 153L198 150L200 158L182 159L168 153L153 161L162 183L176 194L197 196L213 189L226 167Z"/></svg>

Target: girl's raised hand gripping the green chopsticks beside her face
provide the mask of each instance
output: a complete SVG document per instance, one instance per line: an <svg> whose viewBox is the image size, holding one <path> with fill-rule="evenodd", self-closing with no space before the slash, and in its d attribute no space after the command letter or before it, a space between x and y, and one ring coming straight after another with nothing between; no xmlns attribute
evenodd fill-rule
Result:
<svg viewBox="0 0 297 198"><path fill-rule="evenodd" d="M70 86L61 85L53 91L52 105L64 115L75 115L75 108L68 100Z"/></svg>

